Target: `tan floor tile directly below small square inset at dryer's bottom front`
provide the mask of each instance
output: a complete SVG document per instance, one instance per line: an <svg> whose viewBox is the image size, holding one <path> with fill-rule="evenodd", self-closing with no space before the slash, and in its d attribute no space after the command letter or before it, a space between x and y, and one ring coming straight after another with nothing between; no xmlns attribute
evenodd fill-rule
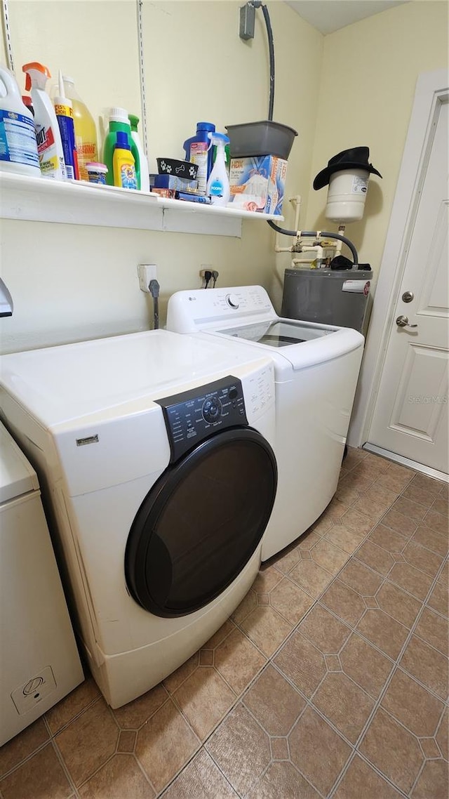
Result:
<svg viewBox="0 0 449 799"><path fill-rule="evenodd" d="M197 669L174 692L197 736L204 741L236 701L236 694L211 666Z"/></svg>

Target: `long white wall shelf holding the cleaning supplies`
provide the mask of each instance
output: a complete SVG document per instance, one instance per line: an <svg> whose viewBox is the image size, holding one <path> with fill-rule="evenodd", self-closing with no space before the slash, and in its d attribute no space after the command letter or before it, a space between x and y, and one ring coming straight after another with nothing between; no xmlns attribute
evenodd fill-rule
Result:
<svg viewBox="0 0 449 799"><path fill-rule="evenodd" d="M242 219L282 222L284 217L219 208L156 194L75 181L52 181L0 172L0 216L68 225L241 236Z"/></svg>

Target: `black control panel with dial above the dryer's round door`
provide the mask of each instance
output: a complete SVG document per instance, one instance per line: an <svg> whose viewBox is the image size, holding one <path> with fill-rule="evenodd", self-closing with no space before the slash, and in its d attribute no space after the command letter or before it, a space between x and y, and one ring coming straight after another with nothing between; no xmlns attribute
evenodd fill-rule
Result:
<svg viewBox="0 0 449 799"><path fill-rule="evenodd" d="M221 429L248 426L242 384L232 375L156 402L164 412L170 463Z"/></svg>

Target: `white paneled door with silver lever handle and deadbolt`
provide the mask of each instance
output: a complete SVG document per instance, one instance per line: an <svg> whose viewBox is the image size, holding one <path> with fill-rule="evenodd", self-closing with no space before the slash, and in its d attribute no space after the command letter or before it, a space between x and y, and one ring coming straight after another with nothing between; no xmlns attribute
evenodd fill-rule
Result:
<svg viewBox="0 0 449 799"><path fill-rule="evenodd" d="M406 232L404 268L368 441L448 471L449 221L447 97L431 121L427 165Z"/></svg>

